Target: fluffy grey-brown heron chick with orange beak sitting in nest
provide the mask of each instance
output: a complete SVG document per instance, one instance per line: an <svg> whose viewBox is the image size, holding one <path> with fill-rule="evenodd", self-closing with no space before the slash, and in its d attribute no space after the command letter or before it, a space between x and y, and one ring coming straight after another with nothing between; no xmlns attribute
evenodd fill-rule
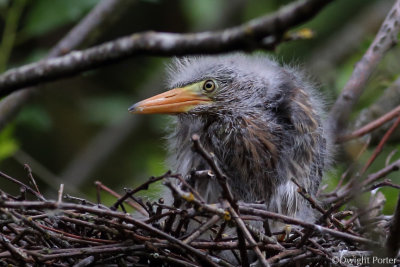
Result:
<svg viewBox="0 0 400 267"><path fill-rule="evenodd" d="M176 115L168 138L172 169L186 175L209 168L191 149L191 136L198 134L230 178L235 198L312 220L291 178L316 193L329 131L323 101L304 75L266 56L244 54L177 58L168 73L169 91L129 111ZM221 195L214 180L196 181L195 188L211 203Z"/></svg>

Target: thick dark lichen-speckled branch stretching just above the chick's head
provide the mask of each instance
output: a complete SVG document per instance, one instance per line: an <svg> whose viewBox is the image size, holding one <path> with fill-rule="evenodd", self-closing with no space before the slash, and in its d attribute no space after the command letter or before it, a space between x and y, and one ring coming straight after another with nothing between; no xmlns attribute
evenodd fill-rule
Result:
<svg viewBox="0 0 400 267"><path fill-rule="evenodd" d="M278 12L223 31L202 33L144 32L83 51L11 69L0 76L0 96L25 86L68 77L134 55L186 55L270 47L290 27L310 19L331 0L298 1Z"/></svg>

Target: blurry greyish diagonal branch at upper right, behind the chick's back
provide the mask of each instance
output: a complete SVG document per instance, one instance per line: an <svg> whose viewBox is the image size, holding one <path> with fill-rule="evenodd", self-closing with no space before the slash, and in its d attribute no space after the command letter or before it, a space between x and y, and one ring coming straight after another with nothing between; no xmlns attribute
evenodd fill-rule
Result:
<svg viewBox="0 0 400 267"><path fill-rule="evenodd" d="M374 41L357 63L355 69L329 114L330 125L338 133L344 129L353 106L364 91L365 85L384 54L397 43L400 30L400 0L386 16Z"/></svg>

